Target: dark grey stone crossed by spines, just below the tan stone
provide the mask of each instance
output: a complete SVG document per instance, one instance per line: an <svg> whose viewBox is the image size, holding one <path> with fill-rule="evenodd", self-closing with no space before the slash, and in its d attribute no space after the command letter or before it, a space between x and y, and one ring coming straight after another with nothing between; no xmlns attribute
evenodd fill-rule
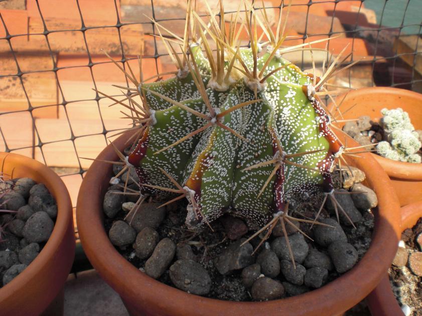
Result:
<svg viewBox="0 0 422 316"><path fill-rule="evenodd" d="M336 192L339 192L336 194ZM337 200L338 204L341 205L343 210L346 212L347 216L343 213L342 209L337 204L337 212L339 214L340 221L344 225L352 225L350 221L352 221L353 224L356 224L362 220L362 214L359 212L359 210L355 207L355 204L353 203L351 194L341 194L341 193L347 193L348 191L345 189L336 189L334 196ZM326 207L328 210L330 210L331 214L335 214L335 206L334 201L331 201L330 198L327 199ZM350 219L350 220L349 220Z"/></svg>

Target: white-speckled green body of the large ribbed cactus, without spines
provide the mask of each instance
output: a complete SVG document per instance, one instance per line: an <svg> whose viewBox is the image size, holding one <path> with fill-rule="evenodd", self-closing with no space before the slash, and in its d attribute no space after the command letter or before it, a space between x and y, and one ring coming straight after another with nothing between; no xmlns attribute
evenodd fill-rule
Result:
<svg viewBox="0 0 422 316"><path fill-rule="evenodd" d="M250 49L242 49L242 55L249 60ZM258 69L269 56L265 53L257 61ZM204 60L197 60L203 69L209 67ZM249 60L248 64L250 67L253 60ZM155 154L205 126L207 120L161 100L151 90L204 115L210 114L205 100L199 97L191 74L185 79L174 78L145 85L150 90L147 90L147 99L151 108L155 109L154 120L128 157L128 162L136 167L142 193L163 194L159 189L143 184L174 188L158 167L166 170L190 192L188 199L194 198L200 209L199 212L188 208L187 225L200 227L226 211L245 218L250 226L262 226L273 213L283 210L286 200L307 198L321 189L330 192L333 188L330 168L334 153L341 150L341 144L329 130L328 116L319 101L308 93L312 76L279 57L272 58L264 75L283 65L286 67L266 79L266 88L258 91L256 98L261 101L236 109L219 119L220 123L248 141L214 122L195 136ZM201 74L203 72L210 73L201 70ZM203 75L202 80L206 84L209 77ZM192 99L192 96L198 98ZM207 89L207 96L217 113L255 100L254 92L243 78L226 92ZM283 153L277 149L276 139L279 139ZM317 150L289 159L317 171L284 163L276 171L273 164L243 170L277 155ZM258 196L266 182L262 194Z"/></svg>

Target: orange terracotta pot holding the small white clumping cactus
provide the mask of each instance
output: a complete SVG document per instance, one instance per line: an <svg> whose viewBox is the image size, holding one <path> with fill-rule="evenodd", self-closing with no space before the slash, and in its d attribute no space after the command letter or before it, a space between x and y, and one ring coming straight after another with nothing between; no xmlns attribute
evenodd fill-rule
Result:
<svg viewBox="0 0 422 316"><path fill-rule="evenodd" d="M337 104L343 97L344 95L337 98ZM353 108L344 114L345 119L368 115L378 122L382 117L381 109L402 108L409 114L414 128L422 129L422 94L416 92L386 87L358 89L347 94L341 110L345 111L352 106ZM422 200L422 164L394 161L377 154L372 156L390 177L400 206Z"/></svg>

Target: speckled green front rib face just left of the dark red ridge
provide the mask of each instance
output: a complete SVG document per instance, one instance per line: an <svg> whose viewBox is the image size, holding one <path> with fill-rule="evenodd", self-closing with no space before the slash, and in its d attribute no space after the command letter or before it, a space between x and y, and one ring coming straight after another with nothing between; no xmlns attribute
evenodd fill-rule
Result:
<svg viewBox="0 0 422 316"><path fill-rule="evenodd" d="M254 99L253 93L243 86L243 100ZM244 171L245 167L267 161L274 156L274 147L270 129L273 128L273 109L263 93L258 94L262 102L251 104L243 109L243 126L241 134L249 142L241 142L237 150L234 166L232 207L239 216L252 224L263 225L268 220L268 210L273 209L273 182L266 186L260 196L258 192L270 175L273 165ZM274 178L274 177L273 177Z"/></svg>

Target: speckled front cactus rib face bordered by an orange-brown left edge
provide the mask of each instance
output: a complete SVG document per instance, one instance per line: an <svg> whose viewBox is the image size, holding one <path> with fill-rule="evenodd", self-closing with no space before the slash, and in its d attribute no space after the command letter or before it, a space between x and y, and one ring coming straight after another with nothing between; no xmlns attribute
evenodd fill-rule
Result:
<svg viewBox="0 0 422 316"><path fill-rule="evenodd" d="M221 104L219 112L235 106L236 88L234 87L229 94L213 91L210 102ZM221 123L238 131L242 123L242 114L240 111L234 111L226 115ZM185 170L185 185L195 192L195 200L209 222L219 217L223 210L230 206L237 147L236 136L214 125L202 136L198 150L194 151L191 163ZM197 218L200 219L199 215L188 213L187 223L195 226Z"/></svg>

